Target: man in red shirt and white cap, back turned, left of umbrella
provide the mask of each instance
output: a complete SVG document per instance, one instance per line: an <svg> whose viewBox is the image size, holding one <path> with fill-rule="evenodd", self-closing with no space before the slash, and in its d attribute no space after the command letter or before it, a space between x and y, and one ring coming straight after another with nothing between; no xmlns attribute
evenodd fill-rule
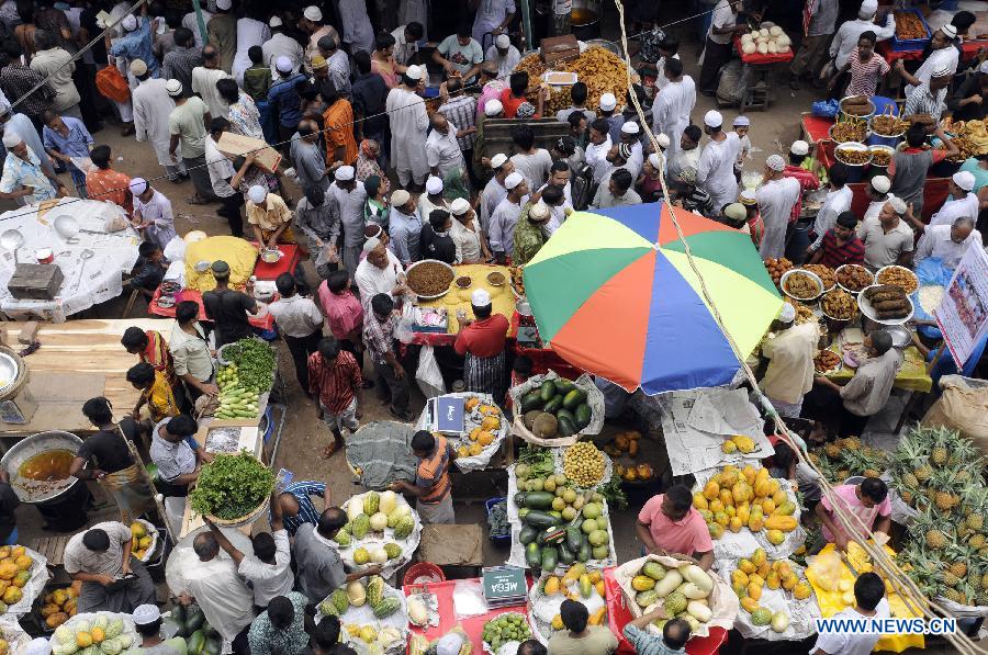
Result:
<svg viewBox="0 0 988 655"><path fill-rule="evenodd" d="M467 358L463 363L463 382L468 391L504 396L504 341L508 321L501 314L493 314L491 294L476 289L470 296L475 320L457 313L460 331L453 346L457 353ZM493 314L493 315L492 315Z"/></svg>

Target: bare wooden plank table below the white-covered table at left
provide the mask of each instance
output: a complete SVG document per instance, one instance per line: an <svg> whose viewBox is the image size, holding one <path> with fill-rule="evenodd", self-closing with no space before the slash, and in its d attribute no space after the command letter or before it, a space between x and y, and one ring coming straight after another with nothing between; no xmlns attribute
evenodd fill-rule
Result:
<svg viewBox="0 0 988 655"><path fill-rule="evenodd" d="M30 371L27 388L37 400L37 411L22 426L0 424L0 438L23 438L45 430L65 430L76 434L96 431L82 416L82 404L105 396L117 413L128 411L137 403L137 389L126 381L127 370L138 363L120 339L128 327L158 330L167 339L171 320L69 320L42 323L37 332L41 348L26 355ZM15 350L23 323L4 323L8 343Z"/></svg>

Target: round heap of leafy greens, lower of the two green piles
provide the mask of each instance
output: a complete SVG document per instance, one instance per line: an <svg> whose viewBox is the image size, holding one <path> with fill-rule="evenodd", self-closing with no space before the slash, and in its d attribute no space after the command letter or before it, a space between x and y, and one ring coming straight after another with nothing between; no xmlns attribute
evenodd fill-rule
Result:
<svg viewBox="0 0 988 655"><path fill-rule="evenodd" d="M192 509L229 521L254 511L274 488L274 474L247 451L217 454L189 494Z"/></svg>

